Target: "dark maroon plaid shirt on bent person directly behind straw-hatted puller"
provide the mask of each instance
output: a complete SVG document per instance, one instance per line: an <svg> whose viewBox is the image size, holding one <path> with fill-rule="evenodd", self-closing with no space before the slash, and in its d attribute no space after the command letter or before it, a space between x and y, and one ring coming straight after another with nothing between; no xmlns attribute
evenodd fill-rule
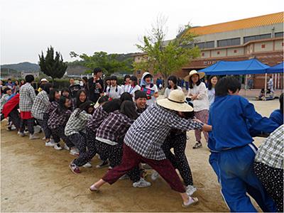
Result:
<svg viewBox="0 0 284 213"><path fill-rule="evenodd" d="M97 129L96 137L104 138L109 141L119 142L119 138L124 137L129 126L133 124L125 114L121 114L118 110L109 113L104 122Z"/></svg>

